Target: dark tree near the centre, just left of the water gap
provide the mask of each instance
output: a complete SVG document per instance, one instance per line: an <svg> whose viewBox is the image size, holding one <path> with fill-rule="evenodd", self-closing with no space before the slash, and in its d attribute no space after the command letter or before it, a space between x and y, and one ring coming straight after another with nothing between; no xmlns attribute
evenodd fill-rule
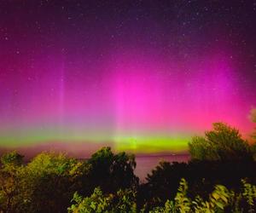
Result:
<svg viewBox="0 0 256 213"><path fill-rule="evenodd" d="M87 163L91 168L87 179L89 193L92 193L95 187L101 187L104 193L113 193L119 188L137 187L134 155L114 154L110 147L103 147L94 153ZM89 194L85 193L85 195Z"/></svg>

